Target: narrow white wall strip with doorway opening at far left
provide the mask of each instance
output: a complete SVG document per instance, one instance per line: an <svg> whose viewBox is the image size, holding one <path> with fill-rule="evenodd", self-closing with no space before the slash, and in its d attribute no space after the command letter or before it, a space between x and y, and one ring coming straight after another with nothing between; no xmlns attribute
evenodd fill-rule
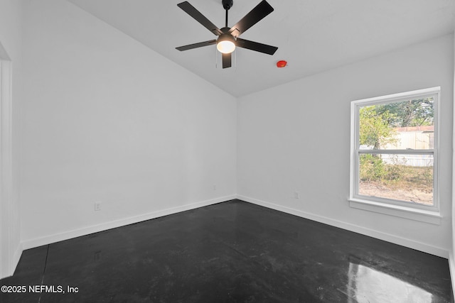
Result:
<svg viewBox="0 0 455 303"><path fill-rule="evenodd" d="M11 103L12 105L12 122L9 127L12 127L12 133L7 141L12 140L10 146L4 146L5 143L5 129L2 132L2 161L4 159L4 149L12 149L12 177L6 177L4 168L2 167L1 175L3 178L8 178L9 181L6 185L9 188L2 188L1 201L0 201L0 278L12 275L18 260L21 256L21 235L20 235L20 212L18 203L18 158L17 151L19 149L18 141L16 140L19 124L18 116L21 108L21 65L22 65L22 45L21 45L21 31L22 31L22 1L17 0L0 0L0 60L7 60L12 68L11 79ZM1 99L1 98L0 98ZM5 108L3 107L4 101L2 100L2 118L4 118ZM9 103L9 101L7 101ZM1 121L1 127L4 128L4 119ZM12 135L12 136L11 136ZM12 137L12 138L11 138ZM5 163L3 163L5 164ZM11 165L10 165L11 166ZM11 174L9 174L11 175ZM12 180L11 180L12 179ZM12 182L12 183L11 183ZM2 180L3 186L5 179ZM6 194L6 191L8 192ZM5 195L6 194L6 195Z"/></svg>

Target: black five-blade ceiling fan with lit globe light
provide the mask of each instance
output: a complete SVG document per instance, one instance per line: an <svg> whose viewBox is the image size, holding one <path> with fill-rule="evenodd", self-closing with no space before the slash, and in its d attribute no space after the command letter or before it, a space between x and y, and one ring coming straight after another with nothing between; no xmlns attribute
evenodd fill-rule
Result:
<svg viewBox="0 0 455 303"><path fill-rule="evenodd" d="M247 13L240 21L237 22L237 24L235 24L235 26L232 26L232 28L228 27L228 11L232 7L233 0L222 0L222 4L223 8L226 11L226 22L224 28L218 28L215 26L215 24L210 22L208 18L205 18L205 16L200 13L200 11L189 4L188 1L177 4L178 7L183 9L183 11L188 13L188 15L193 17L205 28L207 28L213 34L218 35L218 38L200 43L179 46L176 49L183 51L216 44L216 48L218 51L220 51L220 53L222 53L223 68L231 67L231 54L236 47L247 48L248 50L255 50L259 53L265 53L269 55L273 55L277 51L278 48L275 46L238 38L240 35L242 35L242 33L245 33L248 28L254 26L269 13L272 13L273 7L270 6L267 1L262 0L254 9L250 11L250 13Z"/></svg>

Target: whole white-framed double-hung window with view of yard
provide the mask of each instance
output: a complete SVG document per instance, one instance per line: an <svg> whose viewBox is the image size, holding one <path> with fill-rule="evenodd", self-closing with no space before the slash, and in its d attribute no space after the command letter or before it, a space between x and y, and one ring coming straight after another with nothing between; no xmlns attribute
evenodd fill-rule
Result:
<svg viewBox="0 0 455 303"><path fill-rule="evenodd" d="M439 92L351 102L351 206L437 214Z"/></svg>

